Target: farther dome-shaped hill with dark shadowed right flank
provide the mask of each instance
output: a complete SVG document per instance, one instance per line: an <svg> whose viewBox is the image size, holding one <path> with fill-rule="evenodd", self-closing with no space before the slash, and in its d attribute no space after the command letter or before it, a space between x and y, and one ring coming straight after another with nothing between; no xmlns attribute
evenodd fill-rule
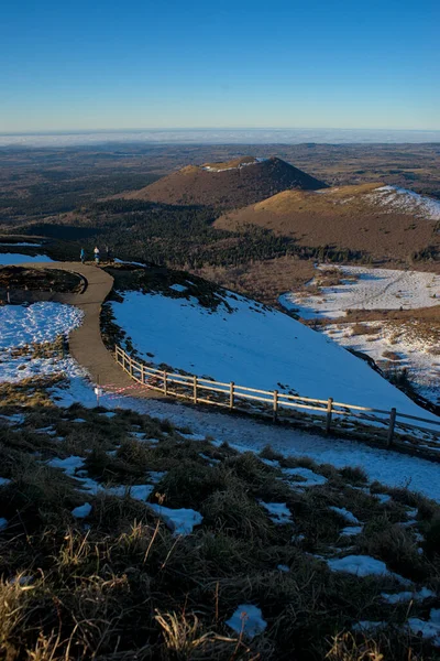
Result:
<svg viewBox="0 0 440 661"><path fill-rule="evenodd" d="M239 208L280 191L324 187L323 182L280 159L243 156L223 163L188 165L122 197L174 205Z"/></svg>

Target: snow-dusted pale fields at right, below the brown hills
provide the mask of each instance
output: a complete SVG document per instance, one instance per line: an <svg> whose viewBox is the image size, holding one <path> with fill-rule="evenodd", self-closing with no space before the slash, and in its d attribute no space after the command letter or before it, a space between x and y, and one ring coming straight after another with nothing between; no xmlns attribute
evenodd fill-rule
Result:
<svg viewBox="0 0 440 661"><path fill-rule="evenodd" d="M338 283L323 286L318 295L289 293L280 297L288 310L302 318L344 316L348 310L415 310L440 305L440 275L416 271L336 267ZM320 272L311 281L319 282ZM343 277L345 275L345 280ZM440 401L440 328L424 319L328 324L323 332L332 340L362 351L393 381L403 369L419 394L433 403ZM424 416L424 415L421 415Z"/></svg>

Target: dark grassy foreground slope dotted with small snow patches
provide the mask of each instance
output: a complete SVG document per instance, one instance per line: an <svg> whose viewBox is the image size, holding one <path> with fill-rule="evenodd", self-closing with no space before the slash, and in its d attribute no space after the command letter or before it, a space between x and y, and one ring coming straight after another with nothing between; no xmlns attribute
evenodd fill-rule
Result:
<svg viewBox="0 0 440 661"><path fill-rule="evenodd" d="M382 622L369 644L387 659L433 654L436 638L413 625L431 630L440 605L440 506L133 411L2 413L0 653L11 661L64 659L67 646L84 661L321 660L337 633L365 644L369 621ZM365 527L351 538L349 514ZM410 610L403 589L417 595Z"/></svg>

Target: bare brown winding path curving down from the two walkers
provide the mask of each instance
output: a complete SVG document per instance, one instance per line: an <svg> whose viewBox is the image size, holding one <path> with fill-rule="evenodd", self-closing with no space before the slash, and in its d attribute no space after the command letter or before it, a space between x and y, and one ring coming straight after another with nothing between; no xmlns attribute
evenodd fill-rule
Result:
<svg viewBox="0 0 440 661"><path fill-rule="evenodd" d="M101 306L113 286L113 278L102 269L80 262L41 262L20 264L32 269L57 269L78 273L87 281L82 293L53 293L42 296L58 303L67 303L82 310L82 324L75 328L69 336L69 349L77 362L89 372L92 381L99 382L109 390L113 388L133 387L133 381L116 364L110 351L107 350L101 337L100 313ZM131 392L132 395L160 397L160 393L142 389Z"/></svg>

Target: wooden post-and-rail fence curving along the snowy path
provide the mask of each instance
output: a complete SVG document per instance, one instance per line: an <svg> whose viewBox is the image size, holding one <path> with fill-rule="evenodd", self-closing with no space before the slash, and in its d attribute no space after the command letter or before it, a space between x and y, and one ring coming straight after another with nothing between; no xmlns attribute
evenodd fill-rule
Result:
<svg viewBox="0 0 440 661"><path fill-rule="evenodd" d="M318 426L327 434L350 434L355 437L380 440L387 447L399 444L417 449L425 448L440 459L440 420L358 407L327 400L285 394L278 390L260 390L226 383L197 376L180 375L148 367L134 360L118 345L114 357L134 381L162 392L167 397L189 400L195 404L209 404L270 416L274 422L288 421L297 426ZM415 424L417 423L417 424Z"/></svg>

